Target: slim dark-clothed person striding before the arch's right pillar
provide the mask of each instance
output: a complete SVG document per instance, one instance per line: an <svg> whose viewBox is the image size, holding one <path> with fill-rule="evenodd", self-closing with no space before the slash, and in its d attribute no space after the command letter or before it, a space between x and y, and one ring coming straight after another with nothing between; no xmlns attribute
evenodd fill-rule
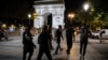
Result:
<svg viewBox="0 0 108 60"><path fill-rule="evenodd" d="M57 29L56 32L55 32L55 34L56 34L57 47L56 47L56 50L55 50L54 55L57 55L58 49L62 50L62 48L60 48L60 38L63 38L63 34L62 34L62 33L63 33L63 32L62 32L62 26L58 26L58 29ZM63 38L63 40L64 40L64 38Z"/></svg>

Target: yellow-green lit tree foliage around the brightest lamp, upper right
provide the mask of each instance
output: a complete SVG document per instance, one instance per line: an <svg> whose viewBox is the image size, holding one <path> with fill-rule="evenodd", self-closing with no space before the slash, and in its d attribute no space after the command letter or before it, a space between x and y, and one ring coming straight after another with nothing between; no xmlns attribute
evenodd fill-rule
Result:
<svg viewBox="0 0 108 60"><path fill-rule="evenodd" d="M90 9L86 14L87 25L92 28L108 28L108 0L90 0ZM81 22L84 21L84 11L78 11Z"/></svg>

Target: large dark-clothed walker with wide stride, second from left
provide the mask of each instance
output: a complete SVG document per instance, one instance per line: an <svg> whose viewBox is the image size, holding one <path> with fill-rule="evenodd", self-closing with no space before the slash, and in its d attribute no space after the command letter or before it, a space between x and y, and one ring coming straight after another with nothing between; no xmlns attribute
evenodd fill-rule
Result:
<svg viewBox="0 0 108 60"><path fill-rule="evenodd" d="M39 44L39 54L37 57L37 60L41 60L42 55L45 54L49 60L52 60L50 46L49 46L49 32L48 32L48 26L44 26L42 29L41 34L38 38L38 44Z"/></svg>

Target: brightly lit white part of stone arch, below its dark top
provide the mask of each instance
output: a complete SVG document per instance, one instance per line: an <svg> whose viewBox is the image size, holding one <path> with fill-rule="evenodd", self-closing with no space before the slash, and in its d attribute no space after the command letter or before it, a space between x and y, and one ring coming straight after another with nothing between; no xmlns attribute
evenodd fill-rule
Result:
<svg viewBox="0 0 108 60"><path fill-rule="evenodd" d="M44 24L56 29L58 25L64 26L64 4L39 4L35 5L38 18L35 27L41 28Z"/></svg>

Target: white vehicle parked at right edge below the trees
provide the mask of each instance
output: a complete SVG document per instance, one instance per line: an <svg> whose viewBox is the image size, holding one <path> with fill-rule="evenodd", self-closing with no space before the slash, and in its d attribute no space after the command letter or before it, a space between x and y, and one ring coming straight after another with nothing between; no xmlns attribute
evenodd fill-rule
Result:
<svg viewBox="0 0 108 60"><path fill-rule="evenodd" d="M92 32L91 38L93 38L93 39L108 39L108 29L102 29L99 31Z"/></svg>

